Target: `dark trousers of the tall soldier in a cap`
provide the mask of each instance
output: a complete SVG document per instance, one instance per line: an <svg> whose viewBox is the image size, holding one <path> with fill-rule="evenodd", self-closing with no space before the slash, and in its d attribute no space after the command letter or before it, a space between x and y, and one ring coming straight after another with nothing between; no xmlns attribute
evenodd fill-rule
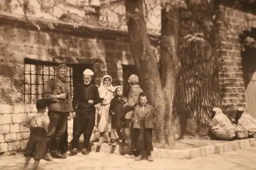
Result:
<svg viewBox="0 0 256 170"><path fill-rule="evenodd" d="M47 134L47 150L59 150L61 137L65 134L69 112L49 112L50 124Z"/></svg>

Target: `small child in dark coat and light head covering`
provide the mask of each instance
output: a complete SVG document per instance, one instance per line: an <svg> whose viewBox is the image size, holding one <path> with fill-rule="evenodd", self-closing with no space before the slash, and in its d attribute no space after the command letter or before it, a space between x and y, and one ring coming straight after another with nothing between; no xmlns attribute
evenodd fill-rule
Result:
<svg viewBox="0 0 256 170"><path fill-rule="evenodd" d="M109 114L111 116L111 142L112 145L116 145L120 139L122 143L125 143L124 136L124 122L125 122L125 110L123 105L127 103L127 99L123 96L123 88L117 86L115 89L115 97L111 100Z"/></svg>

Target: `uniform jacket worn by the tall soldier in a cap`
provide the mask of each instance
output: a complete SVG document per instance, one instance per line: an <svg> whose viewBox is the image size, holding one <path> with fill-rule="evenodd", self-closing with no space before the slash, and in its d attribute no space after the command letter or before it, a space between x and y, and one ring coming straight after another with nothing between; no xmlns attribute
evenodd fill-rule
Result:
<svg viewBox="0 0 256 170"><path fill-rule="evenodd" d="M57 95L66 93L66 99L57 99ZM70 95L70 86L66 82L61 82L58 78L52 78L46 82L42 98L48 100L49 111L72 112L72 100Z"/></svg>

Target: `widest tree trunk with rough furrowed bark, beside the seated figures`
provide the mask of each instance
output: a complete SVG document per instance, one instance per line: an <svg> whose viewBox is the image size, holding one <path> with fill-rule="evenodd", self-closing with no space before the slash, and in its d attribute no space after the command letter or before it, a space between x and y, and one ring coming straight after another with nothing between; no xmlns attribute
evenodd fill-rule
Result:
<svg viewBox="0 0 256 170"><path fill-rule="evenodd" d="M181 40L182 68L175 108L182 120L181 137L208 136L210 110L219 107L218 68L207 41Z"/></svg>

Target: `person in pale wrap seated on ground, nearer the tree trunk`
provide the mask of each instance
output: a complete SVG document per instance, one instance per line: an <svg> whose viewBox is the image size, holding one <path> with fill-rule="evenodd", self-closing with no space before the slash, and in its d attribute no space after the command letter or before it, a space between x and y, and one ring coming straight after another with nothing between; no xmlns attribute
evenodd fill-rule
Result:
<svg viewBox="0 0 256 170"><path fill-rule="evenodd" d="M236 138L236 127L218 107L212 109L211 112L210 132L219 140L234 140Z"/></svg>

